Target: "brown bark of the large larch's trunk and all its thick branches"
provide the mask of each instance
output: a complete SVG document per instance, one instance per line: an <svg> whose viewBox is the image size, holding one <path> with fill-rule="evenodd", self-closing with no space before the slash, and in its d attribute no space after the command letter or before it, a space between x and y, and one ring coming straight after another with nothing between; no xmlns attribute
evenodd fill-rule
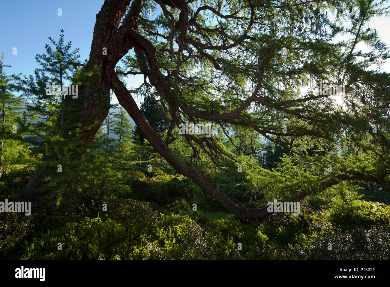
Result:
<svg viewBox="0 0 390 287"><path fill-rule="evenodd" d="M84 67L85 71L89 71L92 68L97 67L97 72L95 72L88 79L88 84L79 87L78 99L65 99L73 109L71 116L67 119L67 122L73 124L79 123L82 126L82 132L79 135L80 146L78 146L77 152L82 153L83 149L88 146L94 139L96 132L99 130L99 127L101 126L108 114L110 104L109 92L110 89L113 89L119 100L119 103L122 105L122 107L124 107L124 109L128 112L131 118L135 121L135 124L139 128L142 135L144 135L145 139L149 141L154 150L158 152L165 160L167 160L167 162L178 173L188 178L191 178L205 193L209 194L225 209L229 210L232 214L234 214L243 221L246 221L251 218L261 218L269 215L269 212L267 210L268 207L250 209L240 207L234 201L230 200L225 194L219 191L218 183L212 185L207 179L207 177L204 175L204 173L202 173L198 169L191 168L190 166L187 166L186 164L181 162L169 149L168 142L166 143L160 137L160 135L153 130L142 112L138 109L137 103L129 94L128 90L126 89L126 86L121 82L121 80L117 77L114 71L117 62L126 53L128 53L129 49L131 48L134 48L135 54L137 55L140 71L146 77L149 78L151 84L160 91L161 96L166 101L169 108L170 116L172 117L171 127L173 128L175 125L179 125L181 123L178 108L177 106L175 106L175 102L177 102L177 99L179 98L179 91L170 88L167 79L160 71L161 67L159 67L156 49L145 37L138 33L138 16L140 14L142 1L133 1L130 9L126 14L126 17L122 20L124 13L128 9L129 2L130 0L106 0L104 2L101 11L96 15L96 25L94 28L94 36L92 39L89 62ZM158 4L160 4L164 14L167 13L165 5L170 5L171 7L178 7L180 9L179 20L177 21L177 23L172 23L172 25L176 25L176 30L180 31L180 34L179 36L177 36L176 30L173 31L171 39L173 40L175 36L177 43L184 50L188 48L183 46L184 42L190 43L191 45L197 47L203 57L209 59L211 62L213 62L214 66L217 69L221 70L216 59L211 57L210 54L204 52L205 46L203 44L198 43L191 39L191 37L186 36L188 25L193 25L193 21L195 21L196 18L195 16L193 19L188 20L188 7L186 2L163 0L158 1ZM211 7L207 6L205 9L209 9L217 13ZM199 11L197 13L199 13ZM252 7L249 26L253 24L253 16L254 8ZM122 25L120 26L121 20ZM237 39L230 46L238 45L245 39L249 38L243 36ZM103 48L106 48L106 55L103 54ZM226 48L227 46L210 46L207 49L226 50ZM264 135L269 140L273 141L275 144L280 144L284 146L283 144L275 142L273 139L268 137L267 131L261 130L259 127L257 127L254 123L252 123L249 119L245 118L241 114L241 112L244 111L253 101L257 101L262 105L268 106L270 108L277 109L288 114L293 114L297 118L313 121L316 120L308 118L307 116L303 116L296 111L286 109L285 107L283 107L285 103L271 103L264 98L261 98L261 95L258 94L259 88L262 84L264 71L268 68L268 64L270 62L270 59L273 57L274 52L275 41L272 41L269 43L268 47L264 48L264 53L266 54L264 59L262 59L261 64L259 65L257 74L258 82L254 93L252 93L250 97L244 100L241 105L234 111L226 114L205 115L201 111L198 111L192 107L188 107L185 105L180 106L181 111L183 111L188 116L211 121L229 121L234 118L238 119L249 127L254 128L254 130ZM172 52L171 55L174 55L174 53ZM291 102L308 101L314 98L316 97L305 98L302 100L294 100ZM276 132L270 133L273 133L275 135L281 135ZM197 139L196 137L193 137L191 135L184 136L189 142L193 141L198 144L206 142L208 146L212 146L213 144L215 144L215 142L212 142L212 137L210 139ZM284 147L287 148L286 146ZM44 161L48 159L50 159L50 156L45 155ZM45 172L50 168L51 167L48 166L46 166L45 168L39 168L28 183L27 191L32 191L36 189L39 180L41 180ZM346 180L356 178L346 176L344 178L340 177L339 179ZM336 183L337 181L332 179L329 180L326 185L331 186ZM306 195L307 192L298 193L293 197L292 200L289 201L299 201Z"/></svg>

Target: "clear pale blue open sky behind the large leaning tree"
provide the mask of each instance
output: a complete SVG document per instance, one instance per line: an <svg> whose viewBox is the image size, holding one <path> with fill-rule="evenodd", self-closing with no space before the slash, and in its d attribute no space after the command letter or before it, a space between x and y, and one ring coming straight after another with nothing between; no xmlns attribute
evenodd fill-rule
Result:
<svg viewBox="0 0 390 287"><path fill-rule="evenodd" d="M104 0L0 0L1 33L0 53L4 53L7 74L23 73L33 75L38 67L37 53L44 53L48 37L58 40L60 30L64 29L65 41L72 41L72 50L80 48L80 60L89 59L90 45L96 21ZM62 9L62 16L57 9ZM390 18L373 18L371 29L377 29L385 43L390 44ZM17 48L17 54L12 49ZM360 48L360 47L359 47ZM390 73L390 61L383 67ZM128 85L138 84L142 76L130 77ZM113 96L113 103L117 103Z"/></svg>

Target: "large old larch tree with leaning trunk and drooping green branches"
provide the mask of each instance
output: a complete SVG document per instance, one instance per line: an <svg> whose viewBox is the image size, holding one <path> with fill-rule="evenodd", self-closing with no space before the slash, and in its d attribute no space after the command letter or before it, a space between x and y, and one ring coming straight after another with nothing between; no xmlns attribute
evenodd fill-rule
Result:
<svg viewBox="0 0 390 287"><path fill-rule="evenodd" d="M242 220L266 209L240 207L205 170L241 173L253 193L278 198L344 180L388 188L389 75L380 67L389 54L368 27L386 13L372 0L106 0L90 59L74 76L79 97L65 99L71 152L91 143L112 89L154 151ZM128 89L128 75L144 82ZM135 96L145 96L141 110ZM154 115L145 107L152 102ZM237 146L238 132L251 152ZM285 154L271 171L250 156L260 157L266 141ZM260 188L265 181L272 184Z"/></svg>

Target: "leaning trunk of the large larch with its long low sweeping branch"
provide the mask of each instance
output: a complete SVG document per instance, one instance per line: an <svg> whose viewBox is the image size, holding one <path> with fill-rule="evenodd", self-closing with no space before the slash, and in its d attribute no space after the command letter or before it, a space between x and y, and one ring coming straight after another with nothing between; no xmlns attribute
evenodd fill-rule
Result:
<svg viewBox="0 0 390 287"><path fill-rule="evenodd" d="M108 114L110 108L109 93L110 89L113 89L122 107L124 107L135 121L145 139L149 141L154 150L167 160L178 173L192 179L205 193L209 194L225 209L229 210L243 221L269 215L267 207L248 209L238 206L234 201L220 192L218 183L211 185L204 173L181 162L168 148L161 136L153 130L142 112L138 109L137 103L135 103L133 97L129 94L126 86L114 72L117 62L119 62L133 47L135 47L137 57L140 55L140 50L144 50L144 52L148 54L148 62L140 55L140 70L146 71L146 66L149 66L153 73L148 75L148 77L154 78L156 86L159 87L160 91L167 98L170 108L174 107L175 96L172 95L167 86L167 82L165 82L159 72L158 61L156 61L157 58L155 55L156 51L154 51L154 48L150 43L147 43L145 39L138 34L138 16L143 2L142 0L133 0L130 9L127 11L129 2L130 0L105 1L101 11L96 15L96 25L94 28L89 62L82 70L82 73L93 70L93 74L92 76L80 78L80 82L83 82L83 85L80 86L78 90L78 98L73 99L71 96L65 98L65 106L67 109L71 110L71 113L65 113L64 126L67 130L64 132L64 137L69 140L75 138L78 140L77 148L74 151L75 155L77 156L78 153L83 153L85 148L89 146L94 139L96 132L99 130L99 127ZM181 23L183 24L183 17L185 16L185 12L183 11L186 11L186 2L164 0L164 3L181 9ZM122 20L126 11L126 17ZM120 23L122 23L121 26L119 26ZM270 45L270 51L268 58L263 62L261 72L264 71L269 59L275 51L275 42ZM260 74L259 82L261 82L261 80L262 77ZM245 105L242 105L240 109L245 109L245 107L250 104L250 100L253 100L253 97L254 96L252 95L251 98L246 100ZM171 112L174 113L174 109L171 110ZM188 112L191 111L188 110ZM237 113L238 115L236 116L240 118L239 112L240 110L237 109L234 112L230 112L229 115L225 115L225 117L235 116L234 113ZM176 115L172 114L172 116ZM60 123L61 119L57 121L57 124ZM77 132L78 125L81 125L81 132ZM53 162L51 156L52 155L45 155L43 161L49 162L50 160L50 162ZM37 169L27 185L27 193L34 191L39 184L39 181L51 169L53 169L53 166L47 164L46 166ZM350 178L340 179L346 180ZM337 181L332 179L329 180L326 185L330 186L336 183ZM307 192L298 193L289 201L299 201L306 195Z"/></svg>

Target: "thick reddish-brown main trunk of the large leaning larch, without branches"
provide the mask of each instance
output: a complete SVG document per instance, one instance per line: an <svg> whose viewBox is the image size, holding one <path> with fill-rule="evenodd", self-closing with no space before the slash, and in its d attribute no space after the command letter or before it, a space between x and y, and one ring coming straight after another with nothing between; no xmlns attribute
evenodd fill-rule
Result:
<svg viewBox="0 0 390 287"><path fill-rule="evenodd" d="M94 67L97 67L98 70L85 80L87 84L79 86L77 99L73 99L71 96L65 98L66 105L71 106L72 109L71 115L68 118L65 116L69 129L74 129L77 124L82 125L82 131L78 135L80 144L78 144L76 153L83 153L85 148L89 146L110 109L110 80L115 65L122 57L121 55L124 55L131 48L131 43L126 39L126 33L129 29L136 29L137 15L142 5L141 0L133 1L124 20L128 23L127 30L121 29L122 27L118 29L123 15L129 7L129 2L130 0L106 0L104 2L100 12L96 15L89 61L83 68L84 71L90 71ZM121 49L114 52L117 48L117 44L114 42L119 40L122 41ZM103 53L104 48L106 53ZM63 123L63 121L61 113L58 124ZM74 137L75 134L73 133L71 136ZM44 154L43 162L46 162L51 156ZM35 171L27 184L27 193L37 189L39 182L50 169L51 167L44 166Z"/></svg>

